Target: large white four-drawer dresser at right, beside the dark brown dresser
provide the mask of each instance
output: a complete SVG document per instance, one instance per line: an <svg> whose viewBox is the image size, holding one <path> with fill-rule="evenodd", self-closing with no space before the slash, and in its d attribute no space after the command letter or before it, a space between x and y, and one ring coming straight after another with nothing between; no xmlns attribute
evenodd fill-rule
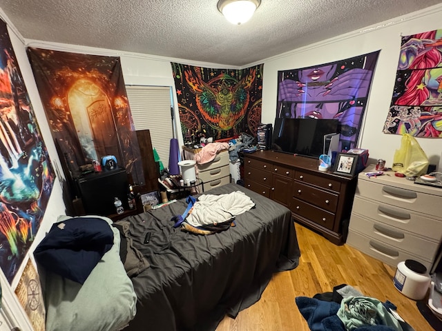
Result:
<svg viewBox="0 0 442 331"><path fill-rule="evenodd" d="M442 238L442 188L415 184L394 172L358 175L347 244L396 266L406 259L430 270Z"/></svg>

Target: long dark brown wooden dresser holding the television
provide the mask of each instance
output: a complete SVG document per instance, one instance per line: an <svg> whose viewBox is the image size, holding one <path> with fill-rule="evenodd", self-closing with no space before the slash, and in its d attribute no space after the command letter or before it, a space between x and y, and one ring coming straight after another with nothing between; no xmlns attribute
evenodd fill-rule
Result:
<svg viewBox="0 0 442 331"><path fill-rule="evenodd" d="M322 172L318 165L318 159L271 150L244 154L244 184L285 205L296 222L342 245L357 177Z"/></svg>

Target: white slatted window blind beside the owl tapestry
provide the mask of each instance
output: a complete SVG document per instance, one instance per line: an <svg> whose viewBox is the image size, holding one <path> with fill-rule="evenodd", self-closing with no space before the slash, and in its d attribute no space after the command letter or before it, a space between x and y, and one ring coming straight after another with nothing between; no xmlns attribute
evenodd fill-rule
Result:
<svg viewBox="0 0 442 331"><path fill-rule="evenodd" d="M126 86L135 130L149 130L152 147L164 168L169 168L169 148L173 138L171 88L168 86Z"/></svg>

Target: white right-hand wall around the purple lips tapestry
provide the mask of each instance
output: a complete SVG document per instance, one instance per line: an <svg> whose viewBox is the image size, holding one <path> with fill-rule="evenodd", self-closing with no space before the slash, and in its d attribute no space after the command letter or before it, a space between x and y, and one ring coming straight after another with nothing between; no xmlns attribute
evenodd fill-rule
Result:
<svg viewBox="0 0 442 331"><path fill-rule="evenodd" d="M368 149L370 158L385 159L387 166L391 167L394 151L401 146L401 136L384 134L382 130L392 100L401 36L442 29L441 14L442 5L432 6L426 10L264 60L262 122L273 123L276 116L278 70L314 66L381 50L365 109L362 139L359 139L358 146ZM417 138L417 141L430 159L430 163L439 164L442 140Z"/></svg>

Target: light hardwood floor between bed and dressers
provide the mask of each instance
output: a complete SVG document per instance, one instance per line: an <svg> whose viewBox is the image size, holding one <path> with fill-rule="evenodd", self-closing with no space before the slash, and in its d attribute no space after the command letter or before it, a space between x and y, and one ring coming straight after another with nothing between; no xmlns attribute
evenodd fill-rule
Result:
<svg viewBox="0 0 442 331"><path fill-rule="evenodd" d="M295 224L295 228L301 250L298 268L274 274L260 301L240 312L236 319L224 317L216 331L308 331L295 298L332 292L334 286L343 283L367 297L391 301L416 331L433 330L416 301L394 288L396 268L349 245L334 245L302 225Z"/></svg>

